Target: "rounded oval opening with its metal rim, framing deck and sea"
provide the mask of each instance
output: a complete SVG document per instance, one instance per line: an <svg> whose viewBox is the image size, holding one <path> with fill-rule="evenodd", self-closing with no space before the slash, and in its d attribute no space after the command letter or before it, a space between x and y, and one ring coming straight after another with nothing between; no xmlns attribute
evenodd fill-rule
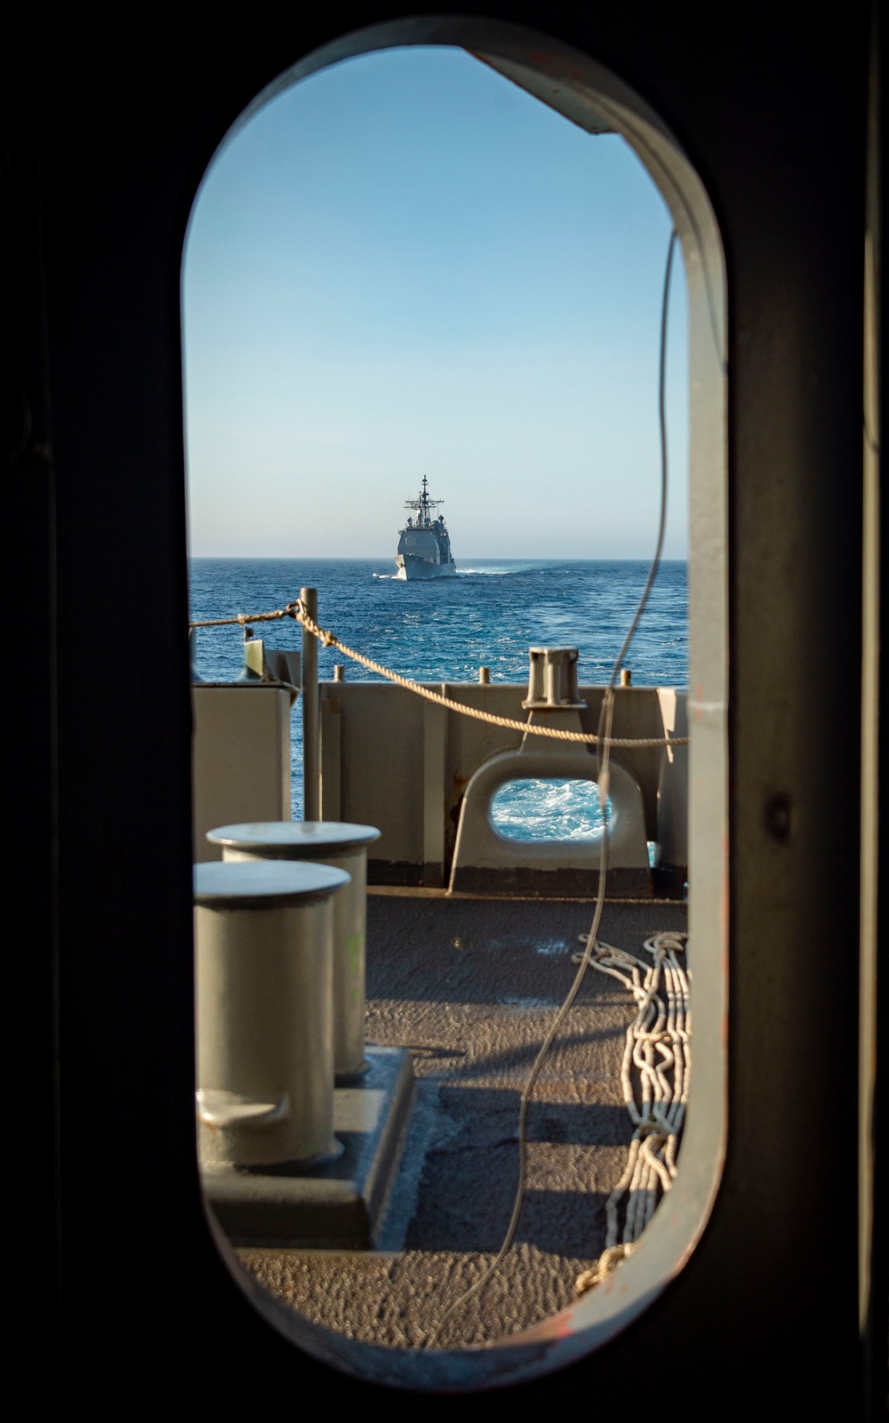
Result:
<svg viewBox="0 0 889 1423"><path fill-rule="evenodd" d="M189 228L195 1101L256 1308L447 1392L627 1328L718 1185L724 282L620 80L400 33L259 95Z"/></svg>

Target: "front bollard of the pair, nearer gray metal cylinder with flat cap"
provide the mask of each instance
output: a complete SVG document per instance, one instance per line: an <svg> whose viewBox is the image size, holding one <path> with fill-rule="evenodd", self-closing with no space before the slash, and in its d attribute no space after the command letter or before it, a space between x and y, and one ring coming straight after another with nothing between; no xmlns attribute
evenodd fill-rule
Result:
<svg viewBox="0 0 889 1423"><path fill-rule="evenodd" d="M195 865L198 1143L205 1167L310 1163L333 1134L330 865Z"/></svg>

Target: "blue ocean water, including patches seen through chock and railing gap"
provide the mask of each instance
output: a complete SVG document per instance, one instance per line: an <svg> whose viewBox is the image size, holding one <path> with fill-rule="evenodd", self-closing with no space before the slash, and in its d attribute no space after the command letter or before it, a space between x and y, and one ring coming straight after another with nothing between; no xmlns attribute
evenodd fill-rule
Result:
<svg viewBox="0 0 889 1423"><path fill-rule="evenodd" d="M390 559L191 561L193 619L259 613L319 591L319 622L343 642L421 682L526 682L528 647L572 646L580 682L606 682L644 586L649 565L634 561L458 561L457 578L407 583ZM296 623L256 629L269 647L299 647ZM684 562L661 565L627 656L640 686L684 686L687 679ZM240 628L202 628L196 663L205 680L233 680L243 665ZM341 653L321 647L319 675L333 677ZM371 673L347 663L348 680ZM293 713L293 817L302 817L302 716ZM600 825L595 787L580 781L521 781L494 804L504 834L525 840L577 840Z"/></svg>

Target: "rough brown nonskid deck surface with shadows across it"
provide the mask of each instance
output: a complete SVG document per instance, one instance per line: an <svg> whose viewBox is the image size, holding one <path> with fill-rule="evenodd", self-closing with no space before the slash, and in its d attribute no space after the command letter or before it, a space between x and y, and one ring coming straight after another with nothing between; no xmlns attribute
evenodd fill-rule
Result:
<svg viewBox="0 0 889 1423"><path fill-rule="evenodd" d="M414 1054L417 1100L376 1252L243 1251L262 1284L348 1338L420 1346L496 1252L512 1208L519 1093L570 985L592 904L368 898L368 1040ZM607 904L600 938L642 953L684 929L677 902ZM573 1299L605 1248L605 1201L632 1126L620 1090L634 1006L590 972L548 1057L528 1118L528 1191L501 1271L440 1345L482 1343Z"/></svg>

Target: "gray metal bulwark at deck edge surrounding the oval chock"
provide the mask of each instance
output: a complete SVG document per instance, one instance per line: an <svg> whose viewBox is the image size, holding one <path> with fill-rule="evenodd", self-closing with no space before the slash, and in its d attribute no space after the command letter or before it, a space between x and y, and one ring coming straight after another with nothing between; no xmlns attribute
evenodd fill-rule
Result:
<svg viewBox="0 0 889 1423"><path fill-rule="evenodd" d="M528 719L526 687L519 683L425 684L468 706L516 720ZM492 757L518 751L522 734L422 702L390 683L323 682L320 693L324 821L370 821L378 827L380 841L371 845L368 852L371 884L427 887L447 884L452 869L462 800L469 781ZM602 696L602 686L580 686L577 689L580 709L575 710L576 720L570 727L568 721L565 723L566 729L595 733ZM542 700L545 702L545 697ZM683 714L684 703L684 689L616 687L613 733L616 737L680 734L673 731L673 726L676 717ZM545 706L550 707L546 702ZM550 707L542 714L553 717L570 713L563 707ZM532 716L538 716L538 712ZM541 747L549 744L539 739ZM552 746L555 748L556 743ZM663 747L637 750L622 747L613 754L639 785L644 820L643 838L664 844L654 879L656 882L669 879L671 887L669 892L677 889L681 896L683 882L688 878L687 834L677 837L669 831L666 817L669 813L673 817L670 824L678 824L677 817L681 818L684 814L687 751L683 754L678 747L673 751L669 795L664 794L660 800L661 767L669 758L669 751ZM516 777L529 774L522 766L521 761L515 763ZM575 774L577 767L586 766L595 767L593 756L589 756L586 763L572 763L572 770L566 774ZM535 774L543 773L535 771ZM545 842L538 848L546 857L546 884L550 891L558 891L558 878L553 878L558 875L558 861L548 852ZM674 858L676 855L681 858ZM461 862L464 869L471 867L471 852L467 854L464 850ZM643 892L650 892L646 889L650 881L647 864L646 858L644 882L636 884L636 889ZM496 871L485 871L485 877L486 888L495 888ZM523 882L526 888L531 887L529 879ZM508 885L504 878L502 888L509 892L521 891L521 882ZM577 885L573 871L562 884L562 892L587 891L589 881L586 885Z"/></svg>

